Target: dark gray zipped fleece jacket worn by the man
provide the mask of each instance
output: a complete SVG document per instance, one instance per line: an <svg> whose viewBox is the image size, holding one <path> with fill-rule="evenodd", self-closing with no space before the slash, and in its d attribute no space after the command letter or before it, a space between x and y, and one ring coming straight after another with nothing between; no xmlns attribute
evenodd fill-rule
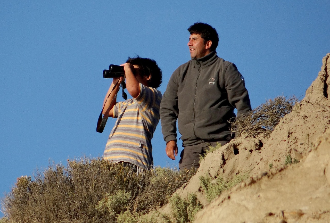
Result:
<svg viewBox="0 0 330 223"><path fill-rule="evenodd" d="M228 120L251 111L248 90L235 64L213 51L191 59L172 74L160 104L164 140L183 146L232 139Z"/></svg>

